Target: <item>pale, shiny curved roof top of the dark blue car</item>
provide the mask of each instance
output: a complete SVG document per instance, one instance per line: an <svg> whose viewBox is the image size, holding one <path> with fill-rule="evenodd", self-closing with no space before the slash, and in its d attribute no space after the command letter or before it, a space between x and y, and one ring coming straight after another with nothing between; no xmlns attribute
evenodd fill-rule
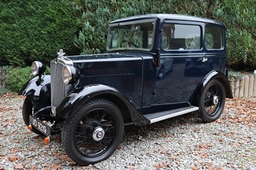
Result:
<svg viewBox="0 0 256 170"><path fill-rule="evenodd" d="M136 15L136 16L132 16L132 17L126 17L126 18L123 18L123 19L113 20L109 24L116 24L116 23L120 23L120 22L131 22L131 21L136 21L136 20L147 20L147 19L187 20L187 21L195 21L195 22L205 22L205 23L210 23L210 24L218 24L218 25L224 26L223 23L221 23L217 20L203 19L203 18L200 18L200 17L193 17L193 16L189 16L189 15L164 14L164 13L148 14L148 15Z"/></svg>

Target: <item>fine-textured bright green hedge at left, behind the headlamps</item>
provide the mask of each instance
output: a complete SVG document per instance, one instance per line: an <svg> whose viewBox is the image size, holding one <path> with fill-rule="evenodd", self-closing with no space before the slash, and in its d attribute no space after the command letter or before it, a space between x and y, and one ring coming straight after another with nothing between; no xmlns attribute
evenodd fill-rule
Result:
<svg viewBox="0 0 256 170"><path fill-rule="evenodd" d="M65 0L0 2L0 65L26 66L40 59L49 63L59 49L74 46L77 20Z"/></svg>

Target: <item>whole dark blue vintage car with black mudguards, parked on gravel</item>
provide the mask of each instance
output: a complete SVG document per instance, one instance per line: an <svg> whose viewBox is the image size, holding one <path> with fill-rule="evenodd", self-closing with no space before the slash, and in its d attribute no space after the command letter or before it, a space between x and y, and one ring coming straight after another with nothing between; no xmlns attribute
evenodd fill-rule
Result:
<svg viewBox="0 0 256 170"><path fill-rule="evenodd" d="M109 24L105 54L65 56L60 50L51 75L33 62L35 77L20 90L26 96L22 116L45 143L61 134L72 160L95 164L116 150L124 125L191 112L205 123L217 120L225 98L232 98L226 60L225 26L216 20L168 14L118 19ZM169 69L164 79L157 74L163 65Z"/></svg>

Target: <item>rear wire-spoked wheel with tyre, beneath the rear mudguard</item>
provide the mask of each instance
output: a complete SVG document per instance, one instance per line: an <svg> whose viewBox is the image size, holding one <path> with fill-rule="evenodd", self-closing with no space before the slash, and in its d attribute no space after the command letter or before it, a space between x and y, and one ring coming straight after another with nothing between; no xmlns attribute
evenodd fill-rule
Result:
<svg viewBox="0 0 256 170"><path fill-rule="evenodd" d="M225 105L225 89L220 81L209 81L200 98L200 117L205 123L218 120Z"/></svg>

